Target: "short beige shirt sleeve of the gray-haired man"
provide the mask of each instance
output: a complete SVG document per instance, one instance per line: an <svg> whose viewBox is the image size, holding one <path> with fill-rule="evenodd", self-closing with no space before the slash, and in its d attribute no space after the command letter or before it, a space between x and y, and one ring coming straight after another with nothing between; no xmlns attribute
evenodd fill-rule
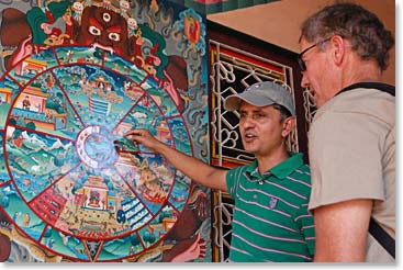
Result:
<svg viewBox="0 0 403 270"><path fill-rule="evenodd" d="M309 134L312 192L309 209L384 199L379 121L361 113L329 112Z"/></svg>

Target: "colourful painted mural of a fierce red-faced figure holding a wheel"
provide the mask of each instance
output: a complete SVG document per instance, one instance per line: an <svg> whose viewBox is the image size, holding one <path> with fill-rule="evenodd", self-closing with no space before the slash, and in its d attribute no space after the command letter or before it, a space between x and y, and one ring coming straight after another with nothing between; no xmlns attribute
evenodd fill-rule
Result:
<svg viewBox="0 0 403 270"><path fill-rule="evenodd" d="M205 18L156 0L0 0L0 261L211 261Z"/></svg>

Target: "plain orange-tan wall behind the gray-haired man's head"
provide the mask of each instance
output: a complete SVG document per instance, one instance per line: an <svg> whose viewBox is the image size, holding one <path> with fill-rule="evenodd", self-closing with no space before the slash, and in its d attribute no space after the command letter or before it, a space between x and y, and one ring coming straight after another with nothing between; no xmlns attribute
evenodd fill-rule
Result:
<svg viewBox="0 0 403 270"><path fill-rule="evenodd" d="M208 19L259 40L299 53L301 22L331 0L281 0L251 8L208 15ZM395 33L394 0L355 0L376 13L387 29ZM395 85L395 49L391 52L391 65L382 80Z"/></svg>

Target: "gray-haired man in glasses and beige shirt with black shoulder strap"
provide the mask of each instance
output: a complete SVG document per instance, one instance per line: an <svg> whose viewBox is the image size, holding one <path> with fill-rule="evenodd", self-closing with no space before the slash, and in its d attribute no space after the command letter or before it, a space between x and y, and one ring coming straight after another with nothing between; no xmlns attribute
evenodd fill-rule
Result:
<svg viewBox="0 0 403 270"><path fill-rule="evenodd" d="M303 22L300 44L301 86L318 108L309 133L314 260L394 262L394 87L380 82L392 34L362 7L336 3Z"/></svg>

